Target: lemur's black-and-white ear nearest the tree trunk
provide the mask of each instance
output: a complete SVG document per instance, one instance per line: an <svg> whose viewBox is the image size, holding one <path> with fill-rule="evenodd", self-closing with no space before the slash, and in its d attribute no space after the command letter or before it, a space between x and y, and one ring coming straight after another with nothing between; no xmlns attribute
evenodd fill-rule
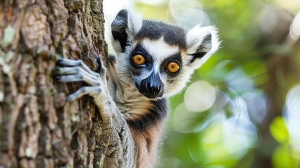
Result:
<svg viewBox="0 0 300 168"><path fill-rule="evenodd" d="M126 46L132 43L134 36L140 31L143 18L135 15L127 9L117 13L115 20L111 23L111 34L113 35L113 48L115 52L124 52Z"/></svg>

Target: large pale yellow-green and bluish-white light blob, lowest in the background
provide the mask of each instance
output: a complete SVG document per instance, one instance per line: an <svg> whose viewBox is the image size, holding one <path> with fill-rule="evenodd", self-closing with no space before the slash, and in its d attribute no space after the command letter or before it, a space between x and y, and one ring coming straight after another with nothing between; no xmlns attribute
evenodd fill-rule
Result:
<svg viewBox="0 0 300 168"><path fill-rule="evenodd" d="M210 118L208 126L199 132L199 140L192 139L189 153L197 162L212 164L220 160L242 158L257 143L257 129L248 118L234 116L227 119L224 113Z"/></svg>

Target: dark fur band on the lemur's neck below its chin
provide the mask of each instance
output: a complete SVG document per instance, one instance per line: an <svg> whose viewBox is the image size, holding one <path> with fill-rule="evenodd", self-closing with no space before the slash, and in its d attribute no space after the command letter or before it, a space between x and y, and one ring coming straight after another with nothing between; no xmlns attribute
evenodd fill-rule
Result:
<svg viewBox="0 0 300 168"><path fill-rule="evenodd" d="M166 118L169 111L168 102L166 99L159 99L152 102L152 109L149 109L149 113L146 113L141 118L136 120L127 120L127 123L134 127L134 129L143 132L152 125L155 125L160 120Z"/></svg>

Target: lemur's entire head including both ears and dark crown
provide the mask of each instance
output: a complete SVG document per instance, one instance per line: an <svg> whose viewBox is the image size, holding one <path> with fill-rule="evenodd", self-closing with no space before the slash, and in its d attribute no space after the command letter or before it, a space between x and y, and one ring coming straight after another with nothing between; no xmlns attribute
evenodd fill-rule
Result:
<svg viewBox="0 0 300 168"><path fill-rule="evenodd" d="M111 28L120 80L136 85L150 99L180 92L219 46L214 27L187 31L143 20L129 10L120 10Z"/></svg>

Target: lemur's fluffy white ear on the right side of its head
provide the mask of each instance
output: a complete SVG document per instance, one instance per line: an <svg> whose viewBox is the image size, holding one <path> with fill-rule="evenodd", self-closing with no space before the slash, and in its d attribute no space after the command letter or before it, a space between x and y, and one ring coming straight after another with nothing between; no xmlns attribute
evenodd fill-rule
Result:
<svg viewBox="0 0 300 168"><path fill-rule="evenodd" d="M215 27L196 27L187 32L187 55L190 57L189 66L198 69L217 51L220 45Z"/></svg>

